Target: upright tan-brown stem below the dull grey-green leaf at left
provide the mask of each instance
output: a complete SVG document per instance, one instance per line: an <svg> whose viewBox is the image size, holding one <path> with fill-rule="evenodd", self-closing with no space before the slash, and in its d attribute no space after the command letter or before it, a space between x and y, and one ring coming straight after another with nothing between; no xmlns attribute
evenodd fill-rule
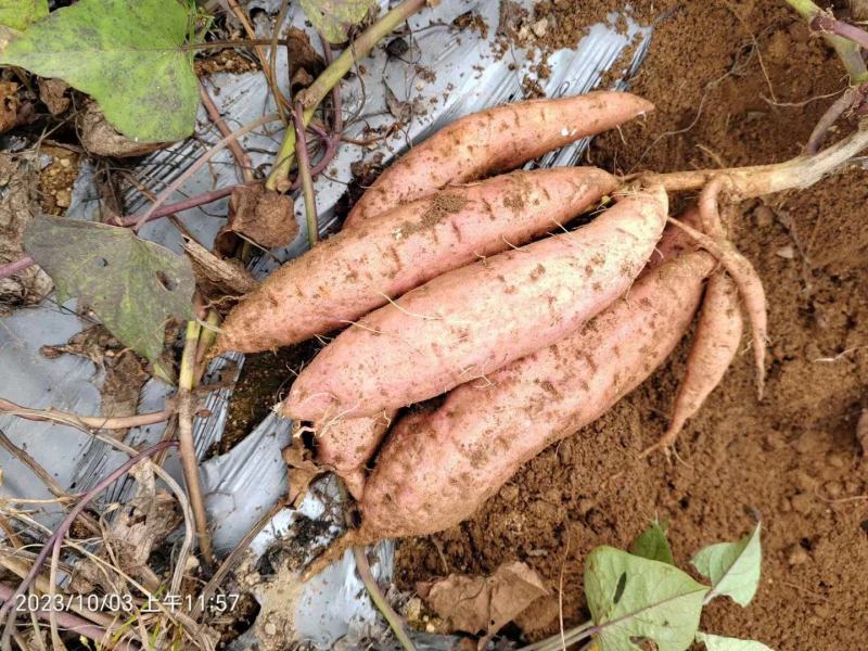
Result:
<svg viewBox="0 0 868 651"><path fill-rule="evenodd" d="M193 398L191 392L194 383L196 345L201 326L197 321L187 322L181 370L178 375L178 455L181 458L183 480L190 496L190 506L196 524L196 536L202 559L207 565L214 563L214 549L208 531L208 515L205 511L205 499L202 493L202 477L199 473L196 446L193 441Z"/></svg>

